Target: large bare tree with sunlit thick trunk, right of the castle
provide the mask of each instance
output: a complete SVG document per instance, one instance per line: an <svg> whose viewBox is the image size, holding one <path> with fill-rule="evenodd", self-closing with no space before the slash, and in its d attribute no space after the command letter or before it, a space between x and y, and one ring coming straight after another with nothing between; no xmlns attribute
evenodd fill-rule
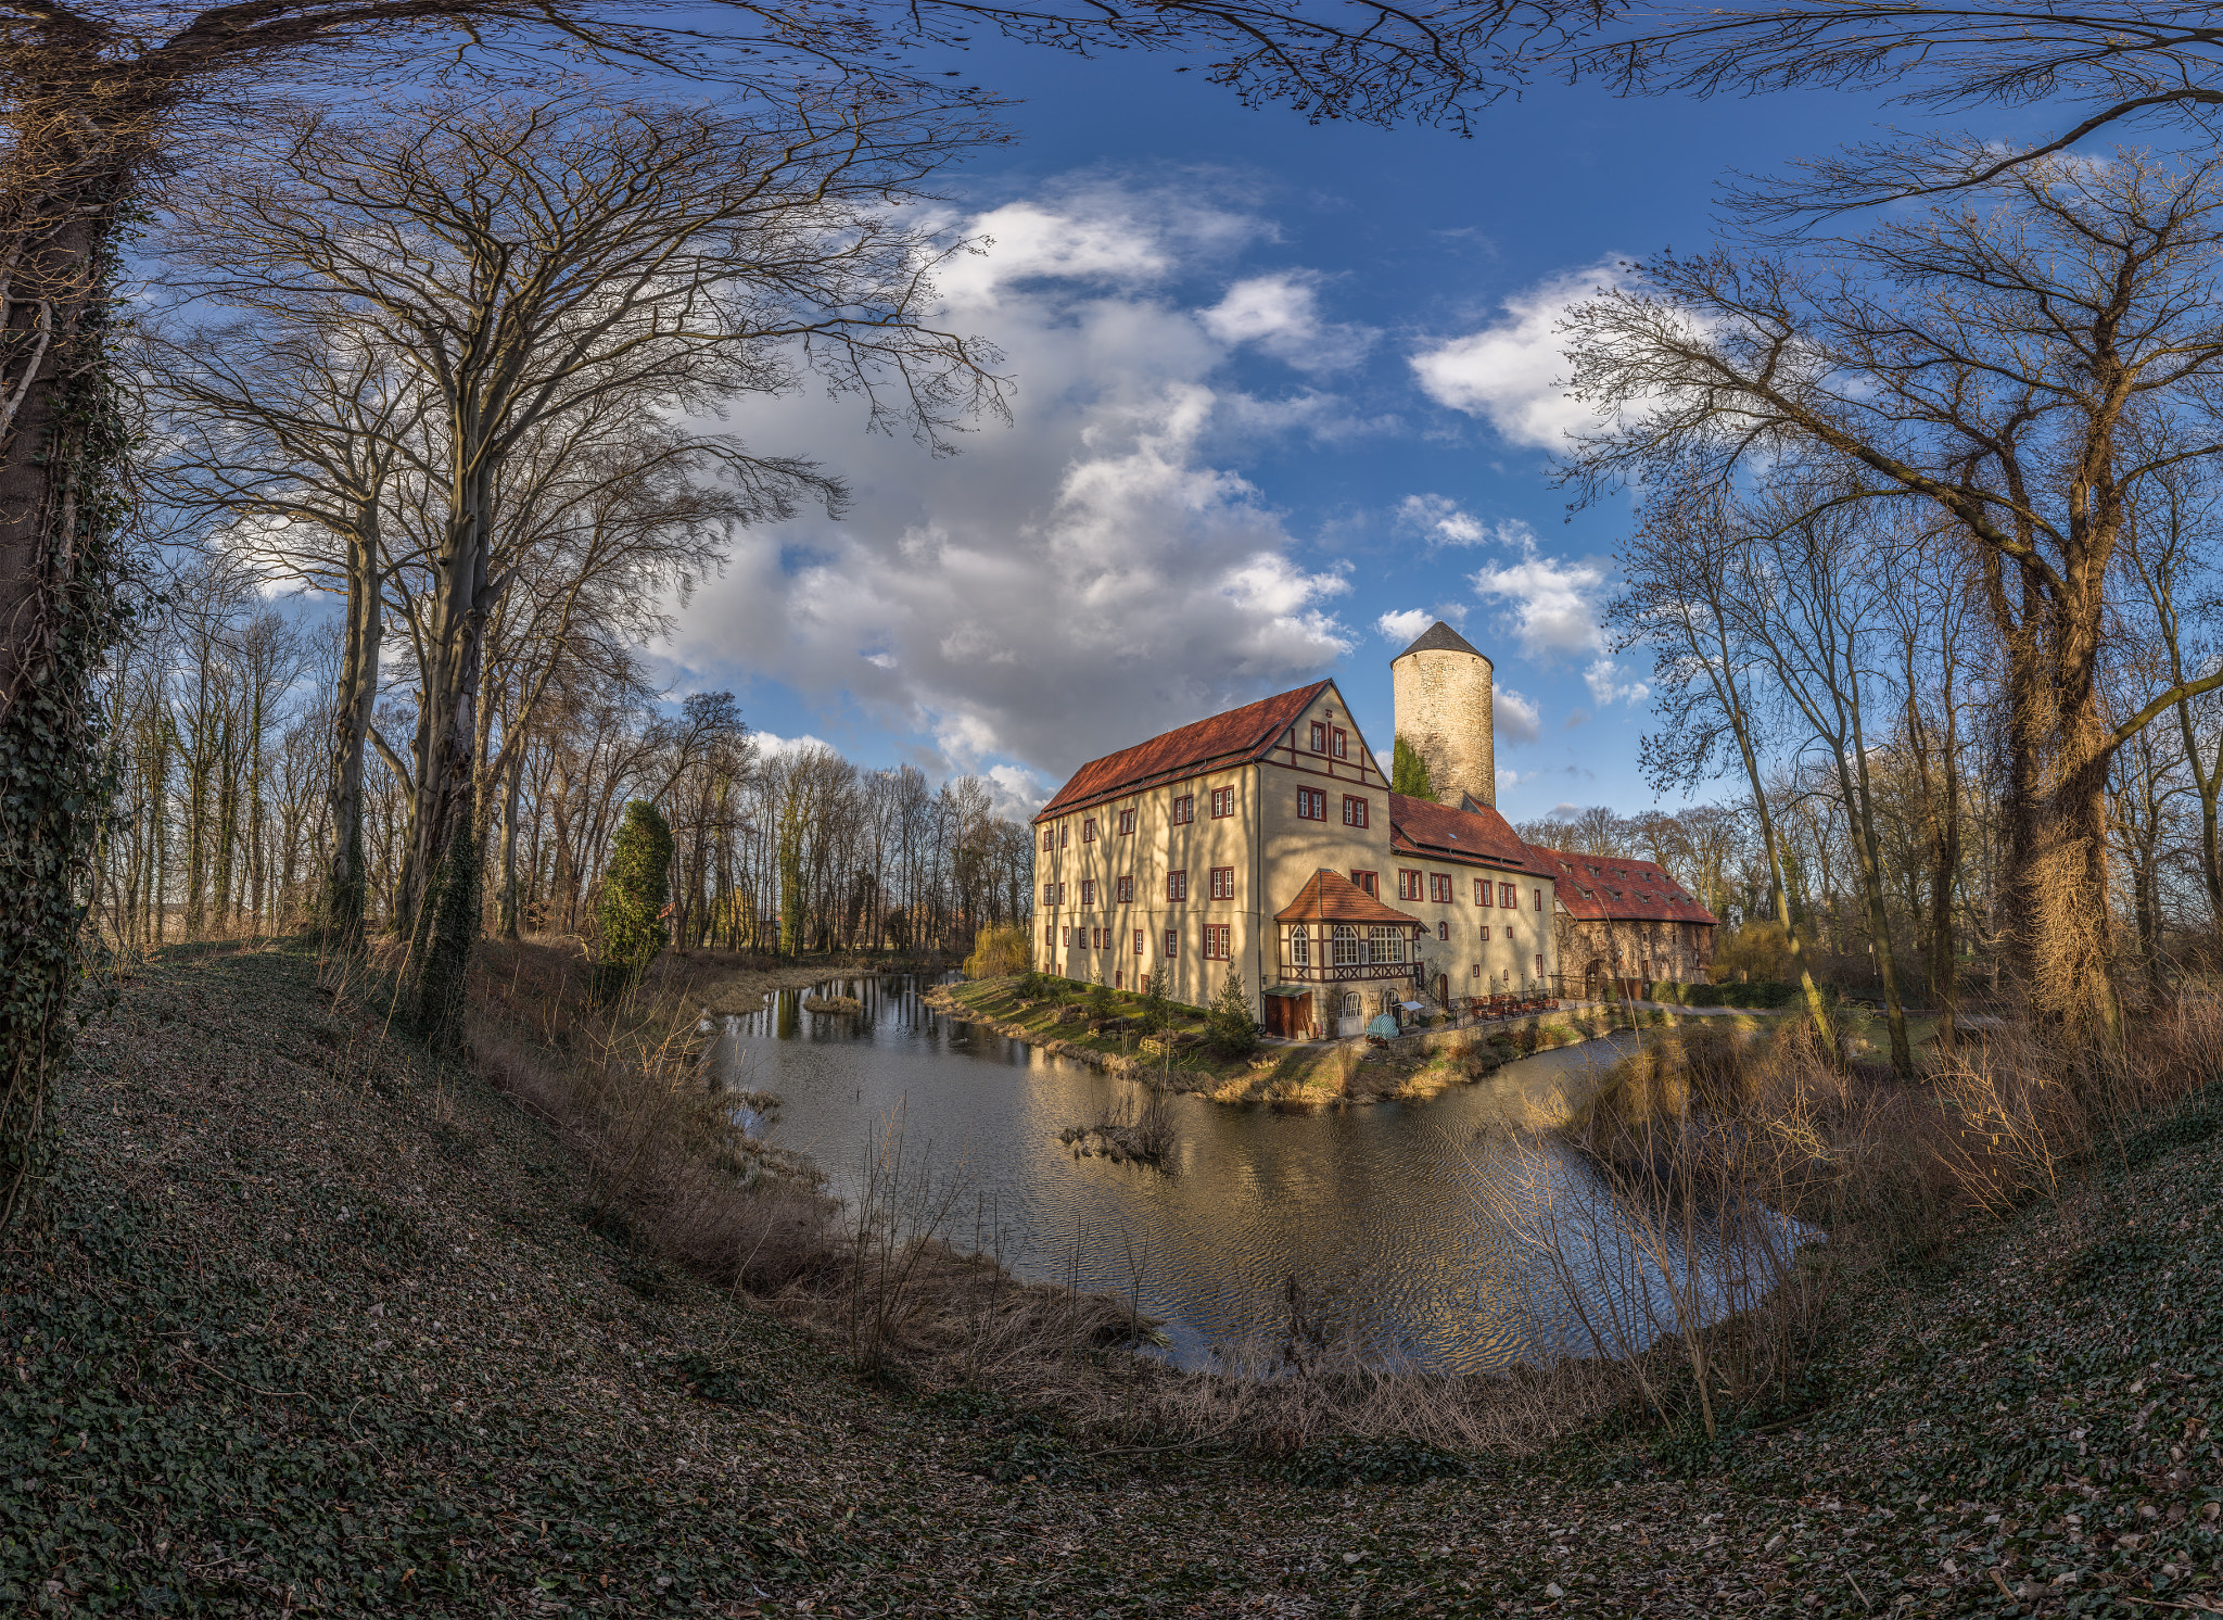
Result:
<svg viewBox="0 0 2223 1620"><path fill-rule="evenodd" d="M1616 420L1567 476L1827 460L1843 498L1914 498L1967 536L2005 649L2007 887L2016 976L2054 1013L2119 1029L2107 909L2107 767L2201 676L2103 716L2107 582L2127 504L2212 453L2201 391L2223 369L2219 164L2032 164L1972 202L1778 253L1658 258L1583 304L1569 360ZM2132 418L2181 418L2130 449Z"/></svg>

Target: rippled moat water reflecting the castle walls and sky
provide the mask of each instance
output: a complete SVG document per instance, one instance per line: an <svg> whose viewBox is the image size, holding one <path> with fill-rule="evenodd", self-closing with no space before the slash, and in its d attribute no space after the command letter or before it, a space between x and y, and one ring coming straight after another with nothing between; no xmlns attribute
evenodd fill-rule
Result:
<svg viewBox="0 0 2223 1620"><path fill-rule="evenodd" d="M865 1011L807 1013L803 991L729 1016L714 1069L771 1091L767 1142L809 1153L849 1196L876 1131L963 1189L947 1236L1018 1276L1134 1298L1167 1353L1212 1367L1272 1347L1296 1278L1305 1313L1376 1364L1496 1371L1594 1353L1576 1289L1656 1293L1625 1253L1576 1242L1569 1273L1538 1231L1607 1193L1549 1138L1514 1131L1581 1096L1629 1036L1523 1058L1427 1102L1283 1111L1172 1098L1163 1164L1074 1158L1058 1140L1140 1087L927 1007L925 978L829 980ZM1598 1222L1605 1224L1605 1222ZM1587 1233L1587 1227L1585 1227ZM1565 1253L1565 1249L1563 1249ZM1603 1276L1601 1276L1603 1273Z"/></svg>

